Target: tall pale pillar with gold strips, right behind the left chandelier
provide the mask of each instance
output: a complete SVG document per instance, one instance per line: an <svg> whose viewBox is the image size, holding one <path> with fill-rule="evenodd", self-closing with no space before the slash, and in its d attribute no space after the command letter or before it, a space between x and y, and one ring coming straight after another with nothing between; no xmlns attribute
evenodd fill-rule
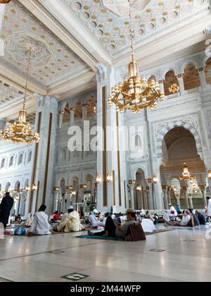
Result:
<svg viewBox="0 0 211 296"><path fill-rule="evenodd" d="M46 211L50 213L53 209L58 101L56 97L43 97L40 94L34 96L37 97L35 130L39 132L40 142L34 144L29 211L34 214L41 204L46 204ZM32 190L33 185L35 185L34 190Z"/></svg>

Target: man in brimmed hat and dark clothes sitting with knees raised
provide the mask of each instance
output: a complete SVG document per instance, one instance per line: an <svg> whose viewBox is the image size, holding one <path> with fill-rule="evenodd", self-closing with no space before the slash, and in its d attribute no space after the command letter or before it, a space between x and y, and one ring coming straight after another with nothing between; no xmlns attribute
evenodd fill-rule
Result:
<svg viewBox="0 0 211 296"><path fill-rule="evenodd" d="M101 231L100 233L92 233L91 231L88 232L89 235L97 235L97 236L107 236L110 238L122 238L127 233L130 224L136 223L136 211L134 209L127 210L127 220L124 224L116 224L115 220L110 216L106 220L105 230Z"/></svg>

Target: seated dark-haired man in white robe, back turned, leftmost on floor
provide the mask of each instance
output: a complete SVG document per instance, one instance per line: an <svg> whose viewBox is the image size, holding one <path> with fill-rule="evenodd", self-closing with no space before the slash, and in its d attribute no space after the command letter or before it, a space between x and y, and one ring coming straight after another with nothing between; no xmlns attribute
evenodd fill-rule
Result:
<svg viewBox="0 0 211 296"><path fill-rule="evenodd" d="M49 217L45 214L46 205L42 204L39 211L34 215L32 226L27 235L50 235L51 226Z"/></svg>

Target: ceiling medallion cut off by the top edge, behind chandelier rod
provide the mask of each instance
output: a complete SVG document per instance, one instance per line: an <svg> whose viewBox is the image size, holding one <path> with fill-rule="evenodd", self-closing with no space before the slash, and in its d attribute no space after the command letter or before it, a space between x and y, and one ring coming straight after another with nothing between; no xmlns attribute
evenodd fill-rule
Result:
<svg viewBox="0 0 211 296"><path fill-rule="evenodd" d="M133 0L131 2L132 14L140 13L150 4L152 0ZM103 8L119 17L127 17L129 14L129 5L126 0L101 0Z"/></svg>

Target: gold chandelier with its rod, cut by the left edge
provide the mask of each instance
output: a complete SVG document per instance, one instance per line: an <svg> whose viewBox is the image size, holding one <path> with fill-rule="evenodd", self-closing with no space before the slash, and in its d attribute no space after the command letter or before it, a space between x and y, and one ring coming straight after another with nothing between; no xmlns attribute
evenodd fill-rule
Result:
<svg viewBox="0 0 211 296"><path fill-rule="evenodd" d="M30 47L29 62L26 74L25 94L23 98L23 109L19 111L18 121L9 125L8 128L6 128L4 131L0 130L1 140L11 140L15 144L32 144L32 142L39 142L39 134L37 132L33 132L30 123L27 123L27 111L25 110L31 56L32 48Z"/></svg>

